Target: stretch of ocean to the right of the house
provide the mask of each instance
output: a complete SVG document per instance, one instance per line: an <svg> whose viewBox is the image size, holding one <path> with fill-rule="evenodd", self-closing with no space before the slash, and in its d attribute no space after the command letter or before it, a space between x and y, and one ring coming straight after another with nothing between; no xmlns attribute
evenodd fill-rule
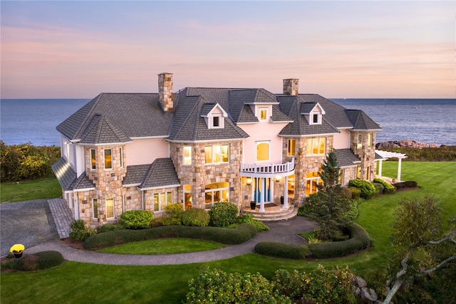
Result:
<svg viewBox="0 0 456 304"><path fill-rule="evenodd" d="M456 99L331 99L363 110L382 130L376 142L415 140L456 145Z"/></svg>

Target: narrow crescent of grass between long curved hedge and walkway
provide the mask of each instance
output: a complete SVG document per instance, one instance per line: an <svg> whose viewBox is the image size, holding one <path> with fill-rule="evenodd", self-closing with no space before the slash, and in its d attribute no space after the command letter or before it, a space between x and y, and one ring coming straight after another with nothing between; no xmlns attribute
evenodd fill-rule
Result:
<svg viewBox="0 0 456 304"><path fill-rule="evenodd" d="M103 248L98 252L118 254L168 254L207 251L224 248L226 245L195 239L155 239Z"/></svg>

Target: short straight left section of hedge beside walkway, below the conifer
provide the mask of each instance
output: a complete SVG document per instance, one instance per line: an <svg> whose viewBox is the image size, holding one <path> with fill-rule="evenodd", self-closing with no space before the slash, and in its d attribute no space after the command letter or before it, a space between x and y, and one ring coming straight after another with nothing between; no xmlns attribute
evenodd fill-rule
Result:
<svg viewBox="0 0 456 304"><path fill-rule="evenodd" d="M254 252L264 256L301 260L309 255L309 247L291 243L260 242L255 246Z"/></svg>

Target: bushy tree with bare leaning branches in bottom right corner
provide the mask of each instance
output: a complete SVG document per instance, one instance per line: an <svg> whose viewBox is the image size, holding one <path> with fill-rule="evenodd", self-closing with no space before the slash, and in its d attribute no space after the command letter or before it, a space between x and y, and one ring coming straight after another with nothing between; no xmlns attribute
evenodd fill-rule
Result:
<svg viewBox="0 0 456 304"><path fill-rule="evenodd" d="M441 211L433 196L400 202L392 236L396 249L392 268L396 273L395 278L389 281L394 281L393 287L383 303L390 303L404 282L413 283L414 278L443 269L456 259L455 223L444 234Z"/></svg>

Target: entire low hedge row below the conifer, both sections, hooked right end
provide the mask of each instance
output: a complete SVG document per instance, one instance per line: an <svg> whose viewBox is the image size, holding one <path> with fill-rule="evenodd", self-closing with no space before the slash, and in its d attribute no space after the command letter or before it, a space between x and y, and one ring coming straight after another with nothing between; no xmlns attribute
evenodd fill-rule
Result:
<svg viewBox="0 0 456 304"><path fill-rule="evenodd" d="M356 253L371 245L368 232L358 224L352 223L348 225L346 231L350 236L350 239L346 241L312 243L308 245L260 242L255 246L255 252L265 256L276 256L279 258L338 258Z"/></svg>

